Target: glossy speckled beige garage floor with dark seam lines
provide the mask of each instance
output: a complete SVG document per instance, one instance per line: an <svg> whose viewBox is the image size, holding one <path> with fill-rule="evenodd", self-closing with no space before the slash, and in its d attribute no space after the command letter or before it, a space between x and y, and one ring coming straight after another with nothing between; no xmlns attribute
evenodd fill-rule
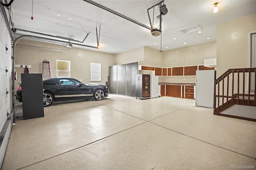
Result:
<svg viewBox="0 0 256 170"><path fill-rule="evenodd" d="M44 117L16 123L3 170L256 168L256 122L213 115L194 100L55 102Z"/></svg>

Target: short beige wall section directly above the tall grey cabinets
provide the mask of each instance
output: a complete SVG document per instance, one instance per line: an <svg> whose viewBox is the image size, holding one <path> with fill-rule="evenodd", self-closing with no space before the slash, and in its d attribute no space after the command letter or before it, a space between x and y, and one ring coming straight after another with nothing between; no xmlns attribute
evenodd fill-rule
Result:
<svg viewBox="0 0 256 170"><path fill-rule="evenodd" d="M115 55L115 59L116 59L115 64L126 64L126 63L133 63L133 62L139 62L140 64L140 62L144 61L144 47L118 53Z"/></svg>

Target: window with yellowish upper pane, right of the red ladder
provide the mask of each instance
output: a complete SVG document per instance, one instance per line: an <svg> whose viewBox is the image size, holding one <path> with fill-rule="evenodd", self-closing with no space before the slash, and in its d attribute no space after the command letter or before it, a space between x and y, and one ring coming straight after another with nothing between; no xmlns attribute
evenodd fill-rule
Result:
<svg viewBox="0 0 256 170"><path fill-rule="evenodd" d="M70 77L70 61L57 59L57 77Z"/></svg>

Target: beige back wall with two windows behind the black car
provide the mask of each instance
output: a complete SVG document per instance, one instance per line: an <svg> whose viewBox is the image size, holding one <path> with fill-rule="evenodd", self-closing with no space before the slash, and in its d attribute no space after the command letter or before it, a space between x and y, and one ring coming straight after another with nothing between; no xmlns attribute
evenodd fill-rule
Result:
<svg viewBox="0 0 256 170"><path fill-rule="evenodd" d="M101 82L93 83L105 84L108 80L109 66L115 64L115 57L113 54L100 53L74 47L68 48L61 45L28 40L20 40L17 44L69 50L60 51L16 45L15 64L31 65L32 67L29 68L29 73L42 73L42 62L44 59L47 59L50 61L51 76L56 77L56 60L68 60L70 61L71 77L81 80L84 83L90 83L90 63L101 63ZM21 82L20 73L24 73L24 68L16 67L15 69L18 75L18 79L15 80L15 89L17 89L18 82Z"/></svg>

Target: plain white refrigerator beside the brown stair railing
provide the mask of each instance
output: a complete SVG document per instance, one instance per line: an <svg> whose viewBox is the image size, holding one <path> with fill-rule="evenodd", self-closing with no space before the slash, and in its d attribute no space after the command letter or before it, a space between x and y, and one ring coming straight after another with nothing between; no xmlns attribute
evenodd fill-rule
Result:
<svg viewBox="0 0 256 170"><path fill-rule="evenodd" d="M196 71L196 105L213 108L215 70Z"/></svg>

